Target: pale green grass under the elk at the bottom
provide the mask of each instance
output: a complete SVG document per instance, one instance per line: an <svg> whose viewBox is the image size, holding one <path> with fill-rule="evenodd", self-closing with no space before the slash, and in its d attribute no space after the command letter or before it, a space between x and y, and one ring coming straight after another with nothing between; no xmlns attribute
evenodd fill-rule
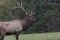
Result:
<svg viewBox="0 0 60 40"><path fill-rule="evenodd" d="M5 36L4 40L16 40L15 35ZM40 34L20 34L19 40L60 40L60 32Z"/></svg>

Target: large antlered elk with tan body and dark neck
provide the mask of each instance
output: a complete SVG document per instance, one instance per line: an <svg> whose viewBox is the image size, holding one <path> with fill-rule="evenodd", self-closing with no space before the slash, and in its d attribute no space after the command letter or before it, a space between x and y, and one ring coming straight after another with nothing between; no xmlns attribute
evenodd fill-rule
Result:
<svg viewBox="0 0 60 40"><path fill-rule="evenodd" d="M21 9L26 14L26 17L24 19L14 19L11 21L4 22L0 21L0 40L4 40L4 36L7 33L14 33L16 35L16 40L19 40L19 32L21 32L29 24L34 23L36 21L36 19L33 18L32 11L26 12L24 7L22 7L22 2L21 5L17 2L17 6L13 9L15 8Z"/></svg>

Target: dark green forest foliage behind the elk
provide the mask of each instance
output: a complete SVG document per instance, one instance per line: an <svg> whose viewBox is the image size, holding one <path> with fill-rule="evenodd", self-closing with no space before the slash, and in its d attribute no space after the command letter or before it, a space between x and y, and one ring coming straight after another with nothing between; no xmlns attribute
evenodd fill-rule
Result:
<svg viewBox="0 0 60 40"><path fill-rule="evenodd" d="M3 0L4 1L4 0ZM59 0L17 0L22 1L23 6L29 11L34 12L34 17L38 20L25 31L32 32L51 32L60 31L60 1ZM6 2L6 3L5 3ZM1 2L2 3L2 2ZM5 0L0 3L0 20L8 21L14 18L24 18L25 14L17 9L11 8L16 6L16 0ZM24 32L23 32L24 33Z"/></svg>

